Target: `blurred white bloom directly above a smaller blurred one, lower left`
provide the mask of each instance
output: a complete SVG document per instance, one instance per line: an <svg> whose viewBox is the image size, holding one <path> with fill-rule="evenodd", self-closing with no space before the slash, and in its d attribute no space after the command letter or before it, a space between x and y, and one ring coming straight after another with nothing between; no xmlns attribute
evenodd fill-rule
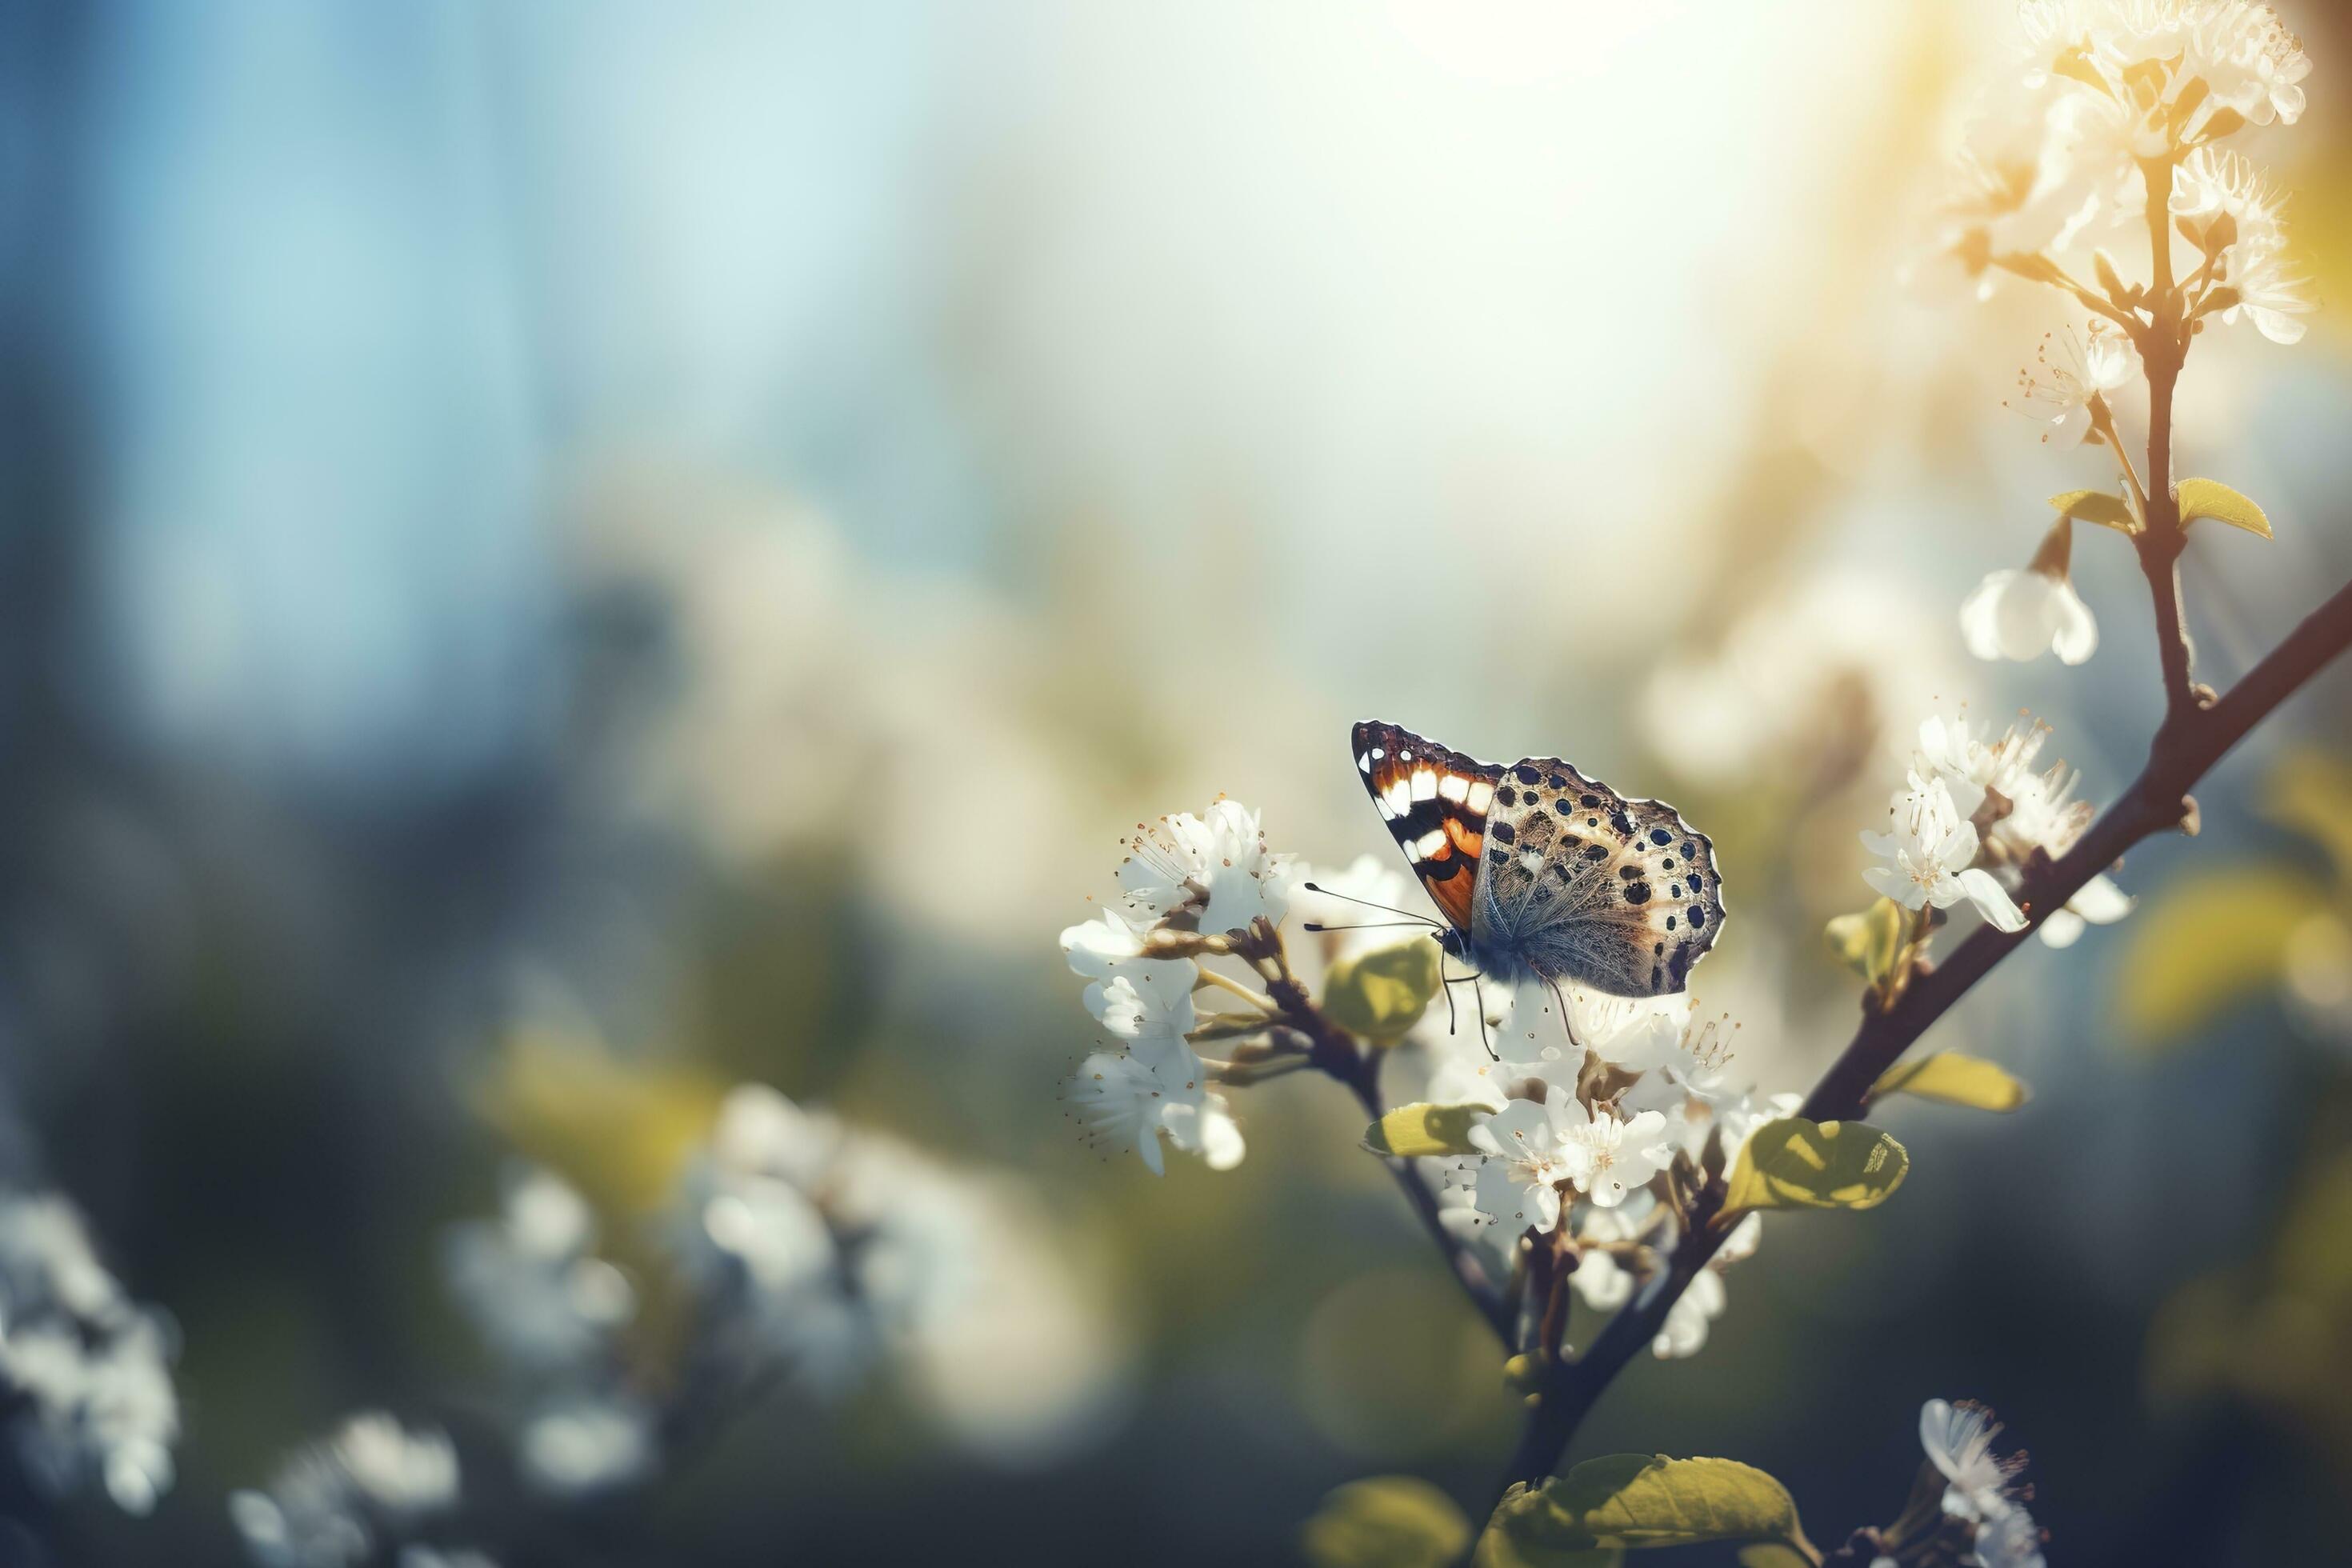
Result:
<svg viewBox="0 0 2352 1568"><path fill-rule="evenodd" d="M593 1253L595 1215L579 1192L550 1171L517 1168L499 1220L449 1229L442 1272L492 1349L553 1371L604 1354L637 1309L628 1276Z"/></svg>

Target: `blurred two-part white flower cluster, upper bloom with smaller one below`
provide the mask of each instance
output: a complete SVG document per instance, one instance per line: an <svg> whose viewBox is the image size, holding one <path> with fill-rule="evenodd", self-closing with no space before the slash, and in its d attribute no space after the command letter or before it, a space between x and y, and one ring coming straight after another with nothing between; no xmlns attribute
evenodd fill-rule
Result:
<svg viewBox="0 0 2352 1568"><path fill-rule="evenodd" d="M520 1385L522 1479L569 1497L626 1486L654 1465L652 1415L623 1382L619 1333L637 1293L595 1255L595 1213L553 1171L506 1180L496 1220L449 1232L449 1293Z"/></svg>

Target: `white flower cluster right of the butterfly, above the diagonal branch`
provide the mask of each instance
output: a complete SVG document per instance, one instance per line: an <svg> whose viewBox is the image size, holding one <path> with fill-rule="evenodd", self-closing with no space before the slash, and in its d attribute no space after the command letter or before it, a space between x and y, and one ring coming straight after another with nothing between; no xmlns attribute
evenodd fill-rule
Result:
<svg viewBox="0 0 2352 1568"><path fill-rule="evenodd" d="M2037 853L2056 860L2070 851L2093 816L2091 802L2074 799L2074 769L2058 762L2034 771L2049 736L2049 724L2030 715L1999 736L1978 731L1966 715L1926 719L1889 806L1891 832L1863 835L1882 860L1863 879L1905 910L1947 910L1966 898L1997 929L2023 931L2025 912L2011 893L2025 865ZM2042 940L2065 947L2086 924L2129 912L2131 898L2098 875L2049 912Z"/></svg>

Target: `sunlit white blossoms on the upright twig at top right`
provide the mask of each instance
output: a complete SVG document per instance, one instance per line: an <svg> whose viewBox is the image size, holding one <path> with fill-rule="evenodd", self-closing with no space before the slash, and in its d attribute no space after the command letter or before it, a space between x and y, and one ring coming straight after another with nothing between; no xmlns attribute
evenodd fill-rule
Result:
<svg viewBox="0 0 2352 1568"><path fill-rule="evenodd" d="M2293 125L2310 59L2251 0L2030 0L2023 33L2011 82L2023 96L1990 110L1962 153L1962 193L1945 209L1936 259L1978 294L2013 275L2091 313L2086 341L2044 339L2009 407L2049 444L2107 447L2126 494L2056 498L2060 517L2032 564L1990 574L1962 602L1959 625L1978 658L2056 651L2082 663L2098 625L2067 574L2074 522L2150 527L2112 395L2145 376L2150 425L2164 428L2187 346L2211 320L2249 322L2274 343L2303 339L2312 301L2288 261L2284 197L2223 141ZM2126 280L2096 249L2126 226L2145 228L2147 277ZM2079 244L2093 244L2089 280L2070 259ZM2147 489L2166 465L2152 449Z"/></svg>

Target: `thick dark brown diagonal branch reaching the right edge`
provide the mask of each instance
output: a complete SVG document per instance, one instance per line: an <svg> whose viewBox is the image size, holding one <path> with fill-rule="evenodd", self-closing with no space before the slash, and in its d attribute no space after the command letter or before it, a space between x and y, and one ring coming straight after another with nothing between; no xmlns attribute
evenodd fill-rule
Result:
<svg viewBox="0 0 2352 1568"><path fill-rule="evenodd" d="M1978 926L1947 964L1936 966L1912 980L1900 999L1884 1011L1875 1011L1865 999L1863 1023L1853 1039L1823 1074L1813 1093L1806 1095L1797 1114L1813 1121L1844 1121L1856 1117L1870 1086L1896 1065L1896 1058L1917 1041L1929 1025L1943 1018L1971 985L1985 978L1994 964L2016 952L2027 933L2042 924L2051 910L2065 907L2091 877L2105 872L2114 860L2145 837L2180 827L2192 818L2190 785L2204 778L2206 769L2220 762L2223 752L2237 745L2249 729L2265 719L2281 701L2293 696L2331 658L2352 646L2352 583L2312 611L2230 696L2211 708L2190 708L2166 717L2150 745L2147 766L2131 790L2117 799L2089 832L2058 860L2034 860L2025 867L2020 905L2027 912L2025 931L1994 931ZM1693 1229L1682 1237L1668 1258L1668 1267L1653 1274L1609 1326L1602 1328L1581 1359L1555 1368L1550 1387L1519 1439L1519 1450L1505 1472L1510 1481L1536 1481L1559 1465L1569 1441L1585 1415L1609 1389L1621 1371L1665 1326L1668 1309L1682 1298L1698 1272L1724 1241L1724 1232Z"/></svg>

